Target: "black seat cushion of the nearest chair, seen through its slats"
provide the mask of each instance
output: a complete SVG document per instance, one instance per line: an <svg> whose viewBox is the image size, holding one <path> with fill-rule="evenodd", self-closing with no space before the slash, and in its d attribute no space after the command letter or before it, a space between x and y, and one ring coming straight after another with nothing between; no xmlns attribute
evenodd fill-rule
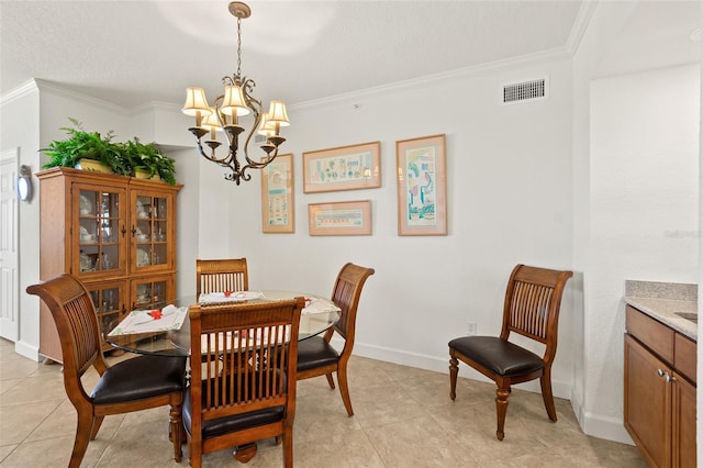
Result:
<svg viewBox="0 0 703 468"><path fill-rule="evenodd" d="M253 391L256 391L254 389L260 388L258 386L258 378L256 378L257 375L255 375L254 377L252 375L249 375L249 379L248 379L248 392L252 393ZM236 383L236 376L234 377L234 387L237 387ZM278 379L277 379L278 380ZM270 378L266 378L265 381L270 382L272 381L272 379ZM286 376L283 376L282 379L282 386L286 387ZM205 402L205 395L207 395L207 391L205 388L210 383L210 386L213 386L213 381L210 380L203 380L202 381L202 387L203 387L203 391L202 391L202 400L203 400L203 406L204 406L204 402ZM226 397L230 393L230 381L226 381L226 388L224 391L220 391L220 392L214 392L214 390L211 391L211 394L217 394L220 395L220 398L222 398L223 395ZM246 391L243 388L243 392ZM244 395L243 395L244 397ZM186 427L186 431L188 431L189 434L192 434L192 398L191 398L191 388L188 387L186 389L186 393L185 393L185 401L183 401L183 427ZM260 426L260 425L265 425L265 424L270 424L270 423L275 423L277 421L281 421L286 415L286 406L280 405L280 406L272 406L272 408L265 408L261 410L257 410L257 411L250 411L248 413L242 413L242 414L236 414L236 415L232 415L232 416L225 416L225 417L219 417L215 420L208 420L208 421L203 421L202 422L202 438L210 438L210 437L216 437L219 435L223 435L223 434L228 434L228 433L233 433L233 432L237 432L237 431L242 431L245 428L249 428L249 427L256 427L256 426Z"/></svg>

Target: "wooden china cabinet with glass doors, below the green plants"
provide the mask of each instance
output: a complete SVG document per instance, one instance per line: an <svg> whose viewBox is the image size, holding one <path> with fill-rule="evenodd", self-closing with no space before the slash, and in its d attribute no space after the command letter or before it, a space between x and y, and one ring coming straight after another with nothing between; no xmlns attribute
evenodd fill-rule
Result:
<svg viewBox="0 0 703 468"><path fill-rule="evenodd" d="M176 196L182 186L65 167L36 172L40 279L70 272L109 332L131 310L176 294ZM103 349L112 349L103 342ZM40 311L40 354L60 363L51 312Z"/></svg>

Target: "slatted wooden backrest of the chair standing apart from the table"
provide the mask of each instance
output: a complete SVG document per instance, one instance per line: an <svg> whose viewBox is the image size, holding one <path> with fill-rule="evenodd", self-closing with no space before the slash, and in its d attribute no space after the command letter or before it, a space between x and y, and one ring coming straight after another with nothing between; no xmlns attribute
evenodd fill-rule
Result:
<svg viewBox="0 0 703 468"><path fill-rule="evenodd" d="M554 356L561 296L571 271L517 265L505 293L501 338L511 332L547 345L545 359Z"/></svg>

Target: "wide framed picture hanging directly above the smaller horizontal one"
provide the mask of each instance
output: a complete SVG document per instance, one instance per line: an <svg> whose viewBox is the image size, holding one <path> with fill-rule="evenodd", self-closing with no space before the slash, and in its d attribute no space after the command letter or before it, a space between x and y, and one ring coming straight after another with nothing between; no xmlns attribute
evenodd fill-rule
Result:
<svg viewBox="0 0 703 468"><path fill-rule="evenodd" d="M381 143L303 153L305 193L381 187Z"/></svg>

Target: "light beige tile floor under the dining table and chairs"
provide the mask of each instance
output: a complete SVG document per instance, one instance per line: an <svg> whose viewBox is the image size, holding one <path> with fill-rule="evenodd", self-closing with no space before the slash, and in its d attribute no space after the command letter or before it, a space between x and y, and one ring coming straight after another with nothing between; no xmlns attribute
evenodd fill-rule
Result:
<svg viewBox="0 0 703 468"><path fill-rule="evenodd" d="M647 466L633 446L584 435L566 400L557 400L554 424L539 394L514 390L499 442L492 385L460 378L453 402L445 374L354 357L349 376L354 417L326 379L299 383L297 467ZM90 372L86 387L96 380ZM60 366L33 363L0 339L0 467L67 466L75 427ZM81 467L188 467L186 446L180 464L171 458L168 410L161 408L105 417ZM281 447L259 442L246 465L231 450L203 457L204 467L237 465L278 468Z"/></svg>

